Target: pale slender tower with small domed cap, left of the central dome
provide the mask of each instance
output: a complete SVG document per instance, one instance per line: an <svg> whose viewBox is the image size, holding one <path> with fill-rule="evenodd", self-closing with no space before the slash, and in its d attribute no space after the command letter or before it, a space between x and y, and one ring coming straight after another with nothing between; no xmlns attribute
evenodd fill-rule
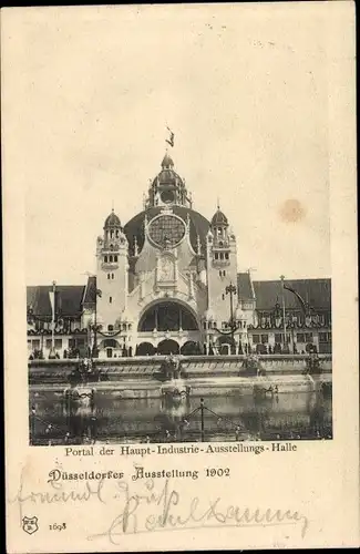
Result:
<svg viewBox="0 0 360 554"><path fill-rule="evenodd" d="M97 321L104 330L112 330L127 298L127 240L117 215L106 217L103 237L97 238L96 286Z"/></svg>

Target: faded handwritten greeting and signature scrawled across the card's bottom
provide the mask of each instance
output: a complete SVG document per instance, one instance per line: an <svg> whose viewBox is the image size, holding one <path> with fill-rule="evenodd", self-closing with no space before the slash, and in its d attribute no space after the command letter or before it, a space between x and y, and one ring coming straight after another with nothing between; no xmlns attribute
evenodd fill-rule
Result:
<svg viewBox="0 0 360 554"><path fill-rule="evenodd" d="M105 486L106 483L106 486ZM64 490L61 484L51 482L44 492L24 492L24 474L16 497L20 522L27 502L39 504L101 502L116 505L116 516L105 531L88 536L89 541L107 537L112 544L120 544L126 534L154 533L162 531L195 530L200 527L268 527L299 525L304 538L309 526L306 515L294 510L274 510L226 505L222 497L204 500L199 496L184 497L172 486L171 480L162 486L153 480L144 483L144 494L133 494L126 481L105 482L104 480L84 482L76 490ZM117 505L120 510L117 510Z"/></svg>

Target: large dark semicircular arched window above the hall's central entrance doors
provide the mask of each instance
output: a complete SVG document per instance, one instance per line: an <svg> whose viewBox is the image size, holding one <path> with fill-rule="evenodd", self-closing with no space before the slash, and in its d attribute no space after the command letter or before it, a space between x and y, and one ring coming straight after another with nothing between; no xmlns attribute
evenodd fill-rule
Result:
<svg viewBox="0 0 360 554"><path fill-rule="evenodd" d="M189 308L176 301L161 301L151 306L138 322L138 331L197 331L195 316Z"/></svg>

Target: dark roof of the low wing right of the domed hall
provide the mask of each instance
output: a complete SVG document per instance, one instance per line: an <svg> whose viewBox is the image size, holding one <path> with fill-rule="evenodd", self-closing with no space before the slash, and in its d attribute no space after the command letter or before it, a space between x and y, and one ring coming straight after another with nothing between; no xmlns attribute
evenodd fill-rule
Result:
<svg viewBox="0 0 360 554"><path fill-rule="evenodd" d="M331 309L331 279L294 279L285 280L285 286L291 287L310 307ZM258 310L274 309L282 300L282 285L278 280L253 281L256 308ZM290 290L284 289L285 306L289 309L299 309L300 302Z"/></svg>

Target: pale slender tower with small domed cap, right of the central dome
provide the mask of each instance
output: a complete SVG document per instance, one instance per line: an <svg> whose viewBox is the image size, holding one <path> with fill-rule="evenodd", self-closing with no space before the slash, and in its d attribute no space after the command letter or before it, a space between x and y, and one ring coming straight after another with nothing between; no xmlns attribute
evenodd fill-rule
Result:
<svg viewBox="0 0 360 554"><path fill-rule="evenodd" d="M225 214L217 207L206 236L208 317L216 319L217 327L230 319L229 299L226 287L233 285L237 289L237 252L236 238L229 232ZM237 296L234 298L234 314Z"/></svg>

